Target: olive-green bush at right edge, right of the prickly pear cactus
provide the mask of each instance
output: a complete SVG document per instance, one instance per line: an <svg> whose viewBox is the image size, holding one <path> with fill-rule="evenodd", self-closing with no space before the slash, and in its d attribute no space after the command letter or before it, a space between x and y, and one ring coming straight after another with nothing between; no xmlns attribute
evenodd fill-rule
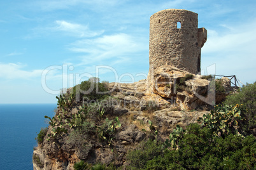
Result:
<svg viewBox="0 0 256 170"><path fill-rule="evenodd" d="M238 89L238 93L227 96L224 103L226 105L242 104L246 110L244 130L248 131L250 127L256 126L256 82L246 84L243 88Z"/></svg>

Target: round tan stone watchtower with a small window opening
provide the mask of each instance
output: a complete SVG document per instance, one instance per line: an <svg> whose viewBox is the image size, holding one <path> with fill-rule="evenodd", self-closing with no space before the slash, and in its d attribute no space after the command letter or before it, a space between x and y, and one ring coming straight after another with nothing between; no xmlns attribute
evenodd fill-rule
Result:
<svg viewBox="0 0 256 170"><path fill-rule="evenodd" d="M150 72L171 66L199 74L201 48L206 39L207 30L197 29L197 13L168 9L153 14L150 17Z"/></svg>

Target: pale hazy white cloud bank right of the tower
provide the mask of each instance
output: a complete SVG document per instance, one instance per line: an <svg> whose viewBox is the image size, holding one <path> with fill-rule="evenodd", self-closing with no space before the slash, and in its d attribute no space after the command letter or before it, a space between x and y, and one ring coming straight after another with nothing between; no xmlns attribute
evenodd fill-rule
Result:
<svg viewBox="0 0 256 170"><path fill-rule="evenodd" d="M208 40L202 48L202 67L216 63L217 74L237 75L243 83L255 81L252 76L256 72L256 21L222 27L226 30L208 30Z"/></svg>

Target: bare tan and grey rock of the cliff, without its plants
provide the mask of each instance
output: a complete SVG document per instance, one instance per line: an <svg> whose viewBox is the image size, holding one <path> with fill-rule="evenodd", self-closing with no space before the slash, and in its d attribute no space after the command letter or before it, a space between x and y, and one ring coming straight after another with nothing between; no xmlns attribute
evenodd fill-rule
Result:
<svg viewBox="0 0 256 170"><path fill-rule="evenodd" d="M188 72L174 68L166 69L165 72L169 77L165 74L157 75L159 81L156 82L156 87L152 88L154 93L148 93L146 80L132 84L109 84L112 93L108 103L111 105L106 106L103 120L106 117L113 119L118 116L122 123L111 144L113 150L107 143L99 141L96 133L90 136L77 136L74 139L71 134L75 129L68 127L68 133L58 140L48 141L48 135L46 135L43 143L35 148L34 169L73 169L75 162L80 160L85 160L90 164L103 162L106 165L112 163L122 166L127 164L125 161L127 152L140 141L150 138L148 121L152 121L154 128L159 131L159 140L165 140L176 124L185 128L187 124L196 122L198 117L206 114L207 111L200 111L198 108L207 110L210 105L195 94L207 95L211 81L202 79L201 75L193 75L192 79L187 79L179 85L182 88L175 89L173 82L186 77ZM222 82L225 89L230 90L228 79L223 78L218 81ZM219 100L223 100L224 96ZM78 102L66 111L59 108L55 118L59 119L59 115L64 115L62 119L67 119L78 112L80 106L82 103ZM190 110L194 108L197 110L191 112ZM49 126L47 134L51 133L52 128ZM142 129L146 129L147 132ZM83 137L87 138L80 140Z"/></svg>

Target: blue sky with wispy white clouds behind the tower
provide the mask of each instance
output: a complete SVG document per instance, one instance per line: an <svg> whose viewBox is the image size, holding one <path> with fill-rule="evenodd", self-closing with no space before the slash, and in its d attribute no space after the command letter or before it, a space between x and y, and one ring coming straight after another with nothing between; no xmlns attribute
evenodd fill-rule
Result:
<svg viewBox="0 0 256 170"><path fill-rule="evenodd" d="M56 103L50 93L96 76L96 68L101 81L146 79L150 16L168 8L198 13L198 27L208 30L203 74L214 67L216 74L255 82L254 0L13 0L0 6L0 103Z"/></svg>

